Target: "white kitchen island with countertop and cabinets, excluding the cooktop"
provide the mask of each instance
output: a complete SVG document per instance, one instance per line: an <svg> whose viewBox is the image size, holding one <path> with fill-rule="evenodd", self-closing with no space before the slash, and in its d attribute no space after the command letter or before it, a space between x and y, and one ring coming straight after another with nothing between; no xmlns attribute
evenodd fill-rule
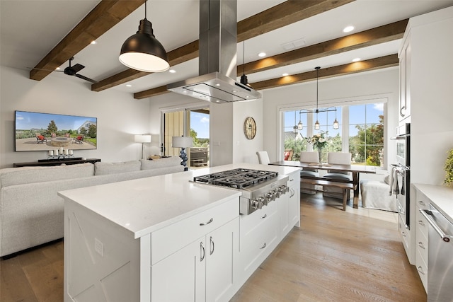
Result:
<svg viewBox="0 0 453 302"><path fill-rule="evenodd" d="M239 215L241 191L190 182L234 168L289 175L292 194ZM64 301L228 301L300 223L299 169L290 167L224 165L59 196Z"/></svg>

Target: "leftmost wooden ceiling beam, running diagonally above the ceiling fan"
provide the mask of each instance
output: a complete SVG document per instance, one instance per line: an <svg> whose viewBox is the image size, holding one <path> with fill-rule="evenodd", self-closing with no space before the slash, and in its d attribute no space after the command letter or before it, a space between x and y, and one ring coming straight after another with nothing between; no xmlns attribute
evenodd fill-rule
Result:
<svg viewBox="0 0 453 302"><path fill-rule="evenodd" d="M30 71L30 79L44 79L142 4L144 0L102 0Z"/></svg>

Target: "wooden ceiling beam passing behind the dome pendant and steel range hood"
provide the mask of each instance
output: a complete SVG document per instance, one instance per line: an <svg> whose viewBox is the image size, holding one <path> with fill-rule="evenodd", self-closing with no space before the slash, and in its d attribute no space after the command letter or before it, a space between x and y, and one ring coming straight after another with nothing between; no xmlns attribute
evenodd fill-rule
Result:
<svg viewBox="0 0 453 302"><path fill-rule="evenodd" d="M249 18L239 21L237 28L237 40L242 42L243 40L250 39L268 33L271 30L282 28L283 26L292 24L297 21L304 20L311 16L315 16L318 13L331 10L338 6L348 4L355 0L289 0L282 4L268 8L267 10L257 13ZM168 62L170 66L175 66L186 62L190 59L198 57L198 40L190 42L187 45L183 45L176 50L171 50L167 53ZM138 79L142 76L146 76L148 73L142 71L133 70L128 72L120 72L113 76L98 81L91 85L91 91L103 91L105 89L127 83L134 79Z"/></svg>

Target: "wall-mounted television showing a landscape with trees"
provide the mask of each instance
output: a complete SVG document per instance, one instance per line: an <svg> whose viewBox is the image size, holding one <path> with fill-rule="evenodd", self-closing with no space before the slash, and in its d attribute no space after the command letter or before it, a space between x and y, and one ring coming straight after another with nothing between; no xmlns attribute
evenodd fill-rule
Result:
<svg viewBox="0 0 453 302"><path fill-rule="evenodd" d="M15 151L97 149L98 119L16 110Z"/></svg>

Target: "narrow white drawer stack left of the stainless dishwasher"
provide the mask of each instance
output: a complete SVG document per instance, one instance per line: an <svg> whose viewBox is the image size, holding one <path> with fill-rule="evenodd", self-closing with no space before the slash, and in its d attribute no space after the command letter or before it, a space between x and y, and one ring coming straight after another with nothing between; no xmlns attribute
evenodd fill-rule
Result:
<svg viewBox="0 0 453 302"><path fill-rule="evenodd" d="M428 221L420 213L420 209L428 209L430 199L422 192L416 190L415 202L417 204L415 222L415 267L422 280L425 291L428 289Z"/></svg>

